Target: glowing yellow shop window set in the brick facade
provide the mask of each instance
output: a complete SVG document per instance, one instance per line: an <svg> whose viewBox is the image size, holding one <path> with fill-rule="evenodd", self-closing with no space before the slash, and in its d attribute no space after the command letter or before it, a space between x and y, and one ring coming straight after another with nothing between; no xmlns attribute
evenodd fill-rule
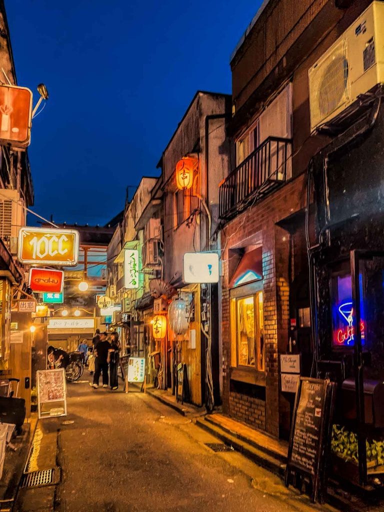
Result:
<svg viewBox="0 0 384 512"><path fill-rule="evenodd" d="M232 365L264 371L263 292L231 300L231 326Z"/></svg>

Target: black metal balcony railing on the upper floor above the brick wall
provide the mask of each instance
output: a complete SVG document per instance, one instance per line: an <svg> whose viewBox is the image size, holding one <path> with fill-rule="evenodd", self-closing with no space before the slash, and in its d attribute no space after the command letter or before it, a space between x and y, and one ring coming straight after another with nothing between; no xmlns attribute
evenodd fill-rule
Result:
<svg viewBox="0 0 384 512"><path fill-rule="evenodd" d="M291 177L292 140L268 137L229 176L219 189L219 216L229 220L257 203Z"/></svg>

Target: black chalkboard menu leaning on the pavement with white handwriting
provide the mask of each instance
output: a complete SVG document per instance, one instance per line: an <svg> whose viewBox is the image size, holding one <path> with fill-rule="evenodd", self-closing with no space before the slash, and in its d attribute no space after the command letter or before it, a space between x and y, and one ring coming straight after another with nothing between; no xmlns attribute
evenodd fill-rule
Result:
<svg viewBox="0 0 384 512"><path fill-rule="evenodd" d="M334 383L302 377L296 393L285 484L294 473L297 483L307 476L312 483L312 501L322 499L334 403Z"/></svg>

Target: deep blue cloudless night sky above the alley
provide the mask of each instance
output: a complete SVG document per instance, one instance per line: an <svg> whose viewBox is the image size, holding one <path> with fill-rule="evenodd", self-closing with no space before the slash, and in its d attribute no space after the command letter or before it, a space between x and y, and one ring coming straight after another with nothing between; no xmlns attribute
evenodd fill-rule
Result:
<svg viewBox="0 0 384 512"><path fill-rule="evenodd" d="M33 209L104 224L156 164L198 89L230 93L229 57L260 0L6 0L18 84L50 94L32 126ZM29 222L32 222L30 218Z"/></svg>

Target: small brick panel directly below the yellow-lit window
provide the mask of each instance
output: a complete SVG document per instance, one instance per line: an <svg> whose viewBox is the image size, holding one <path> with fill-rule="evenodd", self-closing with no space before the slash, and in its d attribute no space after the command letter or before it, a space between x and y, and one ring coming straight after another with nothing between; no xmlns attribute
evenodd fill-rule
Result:
<svg viewBox="0 0 384 512"><path fill-rule="evenodd" d="M265 400L230 392L229 416L265 430Z"/></svg>

